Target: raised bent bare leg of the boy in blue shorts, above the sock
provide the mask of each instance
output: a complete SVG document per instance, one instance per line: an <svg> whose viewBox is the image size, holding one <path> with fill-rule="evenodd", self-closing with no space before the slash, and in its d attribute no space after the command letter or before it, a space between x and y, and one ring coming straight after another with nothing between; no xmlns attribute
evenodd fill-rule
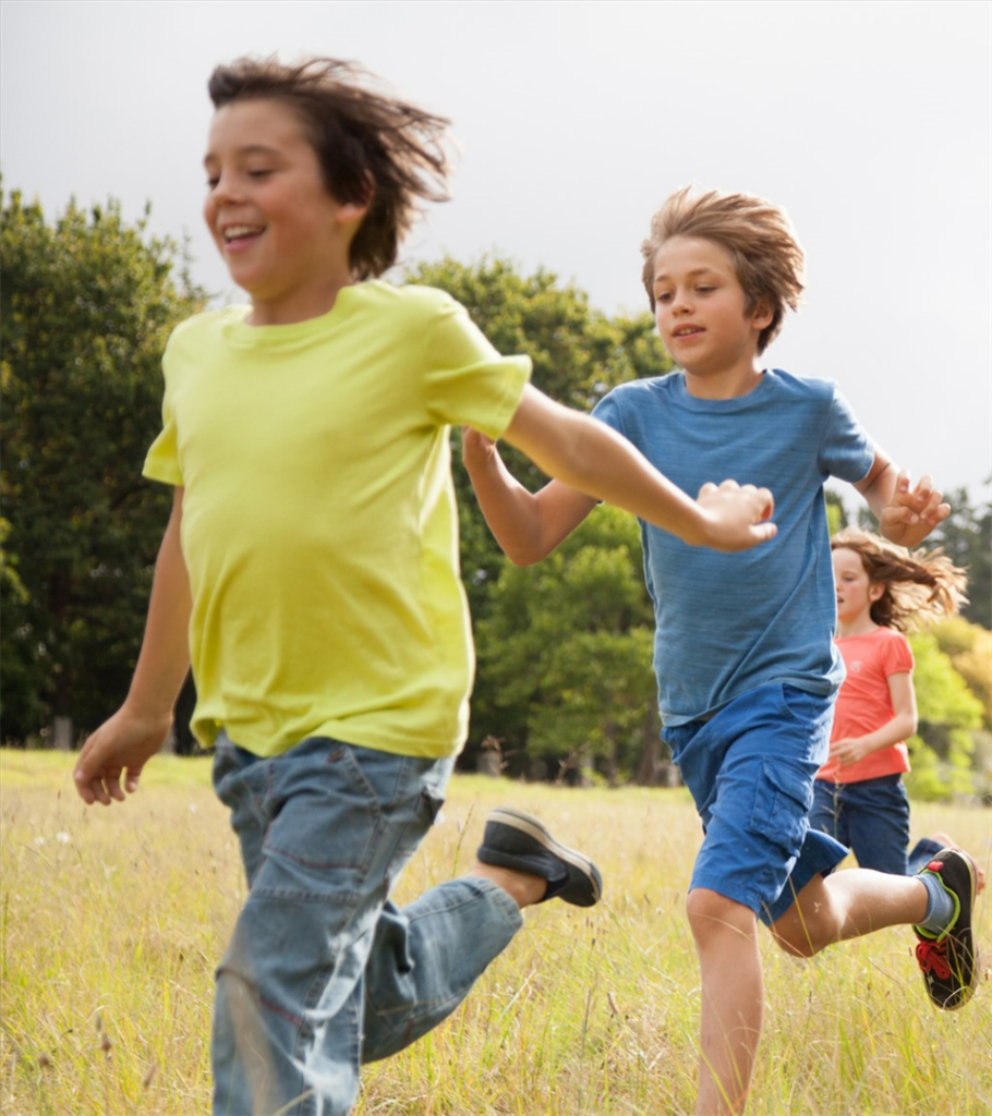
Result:
<svg viewBox="0 0 992 1116"><path fill-rule="evenodd" d="M783 950L811 958L834 942L923 922L926 906L918 879L851 868L826 879L815 876L771 932Z"/></svg>

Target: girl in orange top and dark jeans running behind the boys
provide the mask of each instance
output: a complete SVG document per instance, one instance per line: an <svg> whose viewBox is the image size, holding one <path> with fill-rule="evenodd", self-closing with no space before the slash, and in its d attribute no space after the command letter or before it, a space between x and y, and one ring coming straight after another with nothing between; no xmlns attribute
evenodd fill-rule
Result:
<svg viewBox="0 0 992 1116"><path fill-rule="evenodd" d="M911 626L952 616L965 575L945 556L911 554L864 531L830 542L837 647L847 677L837 695L830 756L813 790L810 826L848 845L863 868L906 875L950 840L921 840L907 860L909 802L903 772L916 732ZM944 835L940 835L943 838Z"/></svg>

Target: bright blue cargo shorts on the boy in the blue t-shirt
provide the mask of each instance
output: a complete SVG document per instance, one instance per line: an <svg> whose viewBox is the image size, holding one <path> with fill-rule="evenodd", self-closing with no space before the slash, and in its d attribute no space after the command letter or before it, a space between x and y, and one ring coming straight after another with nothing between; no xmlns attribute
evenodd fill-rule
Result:
<svg viewBox="0 0 992 1116"><path fill-rule="evenodd" d="M751 690L709 721L666 729L703 821L690 888L705 887L780 918L847 848L809 827L816 773L827 758L834 698L783 683Z"/></svg>

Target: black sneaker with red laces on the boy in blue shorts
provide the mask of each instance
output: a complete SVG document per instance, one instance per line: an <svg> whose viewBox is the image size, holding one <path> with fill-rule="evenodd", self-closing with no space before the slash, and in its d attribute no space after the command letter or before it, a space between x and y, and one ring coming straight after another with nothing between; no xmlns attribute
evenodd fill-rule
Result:
<svg viewBox="0 0 992 1116"><path fill-rule="evenodd" d="M916 960L923 970L927 994L938 1008L953 1011L972 998L979 978L971 930L975 866L967 853L960 848L945 848L919 869L919 875L936 876L954 901L954 918L940 934L921 926L913 927L913 933L919 939Z"/></svg>

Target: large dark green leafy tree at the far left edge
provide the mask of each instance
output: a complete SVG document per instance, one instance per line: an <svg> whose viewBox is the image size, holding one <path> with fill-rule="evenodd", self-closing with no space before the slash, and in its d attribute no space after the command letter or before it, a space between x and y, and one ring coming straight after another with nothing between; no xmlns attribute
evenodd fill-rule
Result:
<svg viewBox="0 0 992 1116"><path fill-rule="evenodd" d="M162 350L202 304L180 248L116 202L49 223L0 192L0 739L92 728L126 692L168 514L141 475Z"/></svg>

